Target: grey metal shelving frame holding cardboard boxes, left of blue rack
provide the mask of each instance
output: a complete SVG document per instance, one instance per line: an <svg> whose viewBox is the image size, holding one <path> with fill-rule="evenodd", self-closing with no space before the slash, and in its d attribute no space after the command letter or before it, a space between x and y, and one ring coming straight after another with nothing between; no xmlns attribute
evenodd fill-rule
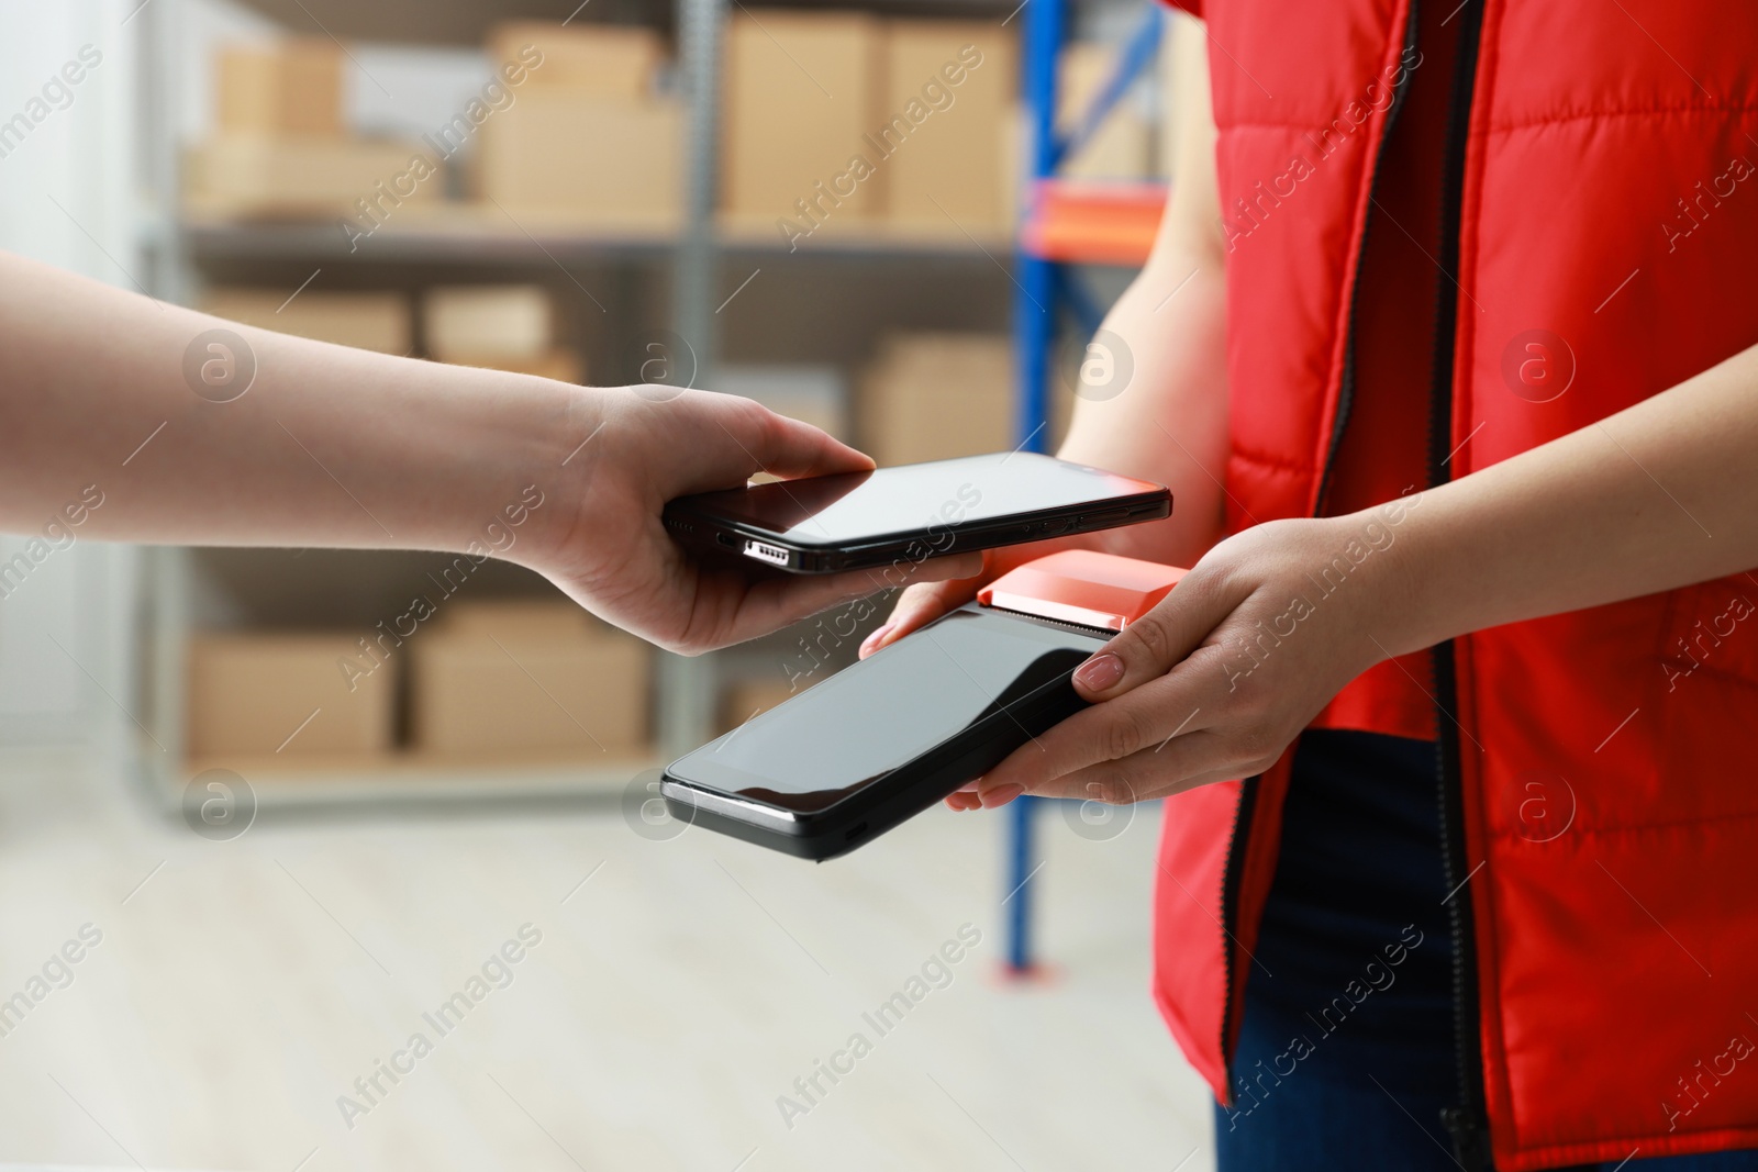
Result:
<svg viewBox="0 0 1758 1172"><path fill-rule="evenodd" d="M417 40L425 44L480 44L483 32L503 19L568 19L577 0L508 0L480 5L469 0L244 0L248 7L304 35L341 40ZM793 0L781 0L791 4ZM812 7L812 5L803 5ZM860 0L853 7L893 16L986 16L1011 11L1006 0ZM631 283L665 274L672 283L670 329L696 351L696 380L712 380L719 355L716 309L728 258L754 258L786 251L774 225L717 220L719 149L719 46L728 16L726 0L601 0L594 18L642 21L675 32L679 83L687 100L686 230L652 225L622 228L575 223L515 225L471 206L408 207L397 221L374 232L367 257L352 255L334 223L239 223L188 214L179 190L178 79L186 46L178 37L179 0L156 0L141 11L141 93L146 151L142 177L149 204L144 251L153 293L188 302L200 276L211 271L274 271L276 265L332 265L338 272L371 271L413 281L417 271L455 267L482 272L564 272L575 265L614 271L626 292ZM812 264L865 265L881 258L921 258L988 267L1006 257L1009 241L970 239L962 234L926 234L886 225L825 232L812 242ZM988 271L988 269L984 269ZM573 274L568 274L573 279ZM297 278L295 278L297 281ZM608 300L608 299L607 299ZM614 304L615 307L615 304ZM146 722L153 743L142 747L142 777L162 801L176 805L188 780L185 754L185 640L192 629L193 580L200 555L188 548L144 550L141 573L141 643L146 684ZM661 655L657 664L657 745L661 754L696 747L712 734L719 657ZM258 805L360 807L387 801L464 803L506 799L563 799L619 792L654 761L615 763L605 768L531 764L485 770L404 759L383 768L272 770L253 777Z"/></svg>

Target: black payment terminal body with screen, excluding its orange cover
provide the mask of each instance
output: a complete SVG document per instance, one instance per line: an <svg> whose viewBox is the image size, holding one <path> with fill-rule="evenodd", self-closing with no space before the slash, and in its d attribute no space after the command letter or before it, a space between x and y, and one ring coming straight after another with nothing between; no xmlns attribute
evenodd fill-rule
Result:
<svg viewBox="0 0 1758 1172"><path fill-rule="evenodd" d="M830 859L1086 706L1111 631L970 603L666 766L672 817Z"/></svg>

